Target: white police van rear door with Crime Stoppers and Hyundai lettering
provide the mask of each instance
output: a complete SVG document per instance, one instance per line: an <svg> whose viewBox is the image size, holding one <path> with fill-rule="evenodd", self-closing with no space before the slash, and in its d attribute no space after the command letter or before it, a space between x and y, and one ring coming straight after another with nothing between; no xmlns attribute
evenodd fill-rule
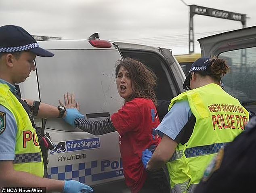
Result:
<svg viewBox="0 0 256 193"><path fill-rule="evenodd" d="M97 48L87 40L38 43L55 56L36 58L36 72L21 85L23 98L58 106L63 94L75 93L80 112L88 120L105 119L124 104L115 84L115 64L121 55L113 45ZM36 124L40 126L40 120ZM62 119L48 119L46 132L55 145L49 151L48 178L73 179L88 185L124 178L117 132L94 136Z"/></svg>

